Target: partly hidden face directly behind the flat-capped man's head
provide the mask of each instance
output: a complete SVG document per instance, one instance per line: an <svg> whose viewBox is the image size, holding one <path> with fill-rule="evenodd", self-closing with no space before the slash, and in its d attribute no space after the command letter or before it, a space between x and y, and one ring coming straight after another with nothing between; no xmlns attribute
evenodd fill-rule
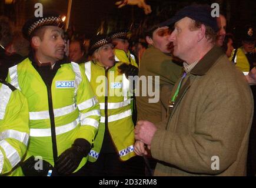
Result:
<svg viewBox="0 0 256 188"><path fill-rule="evenodd" d="M222 46L225 39L226 26L227 26L227 21L223 15L220 15L220 17L217 17L217 24L219 27L219 31L217 33L216 45Z"/></svg>

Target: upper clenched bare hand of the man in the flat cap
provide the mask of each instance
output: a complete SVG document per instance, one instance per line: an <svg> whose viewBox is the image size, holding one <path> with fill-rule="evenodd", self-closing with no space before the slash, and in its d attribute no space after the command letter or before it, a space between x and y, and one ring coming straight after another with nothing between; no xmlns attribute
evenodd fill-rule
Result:
<svg viewBox="0 0 256 188"><path fill-rule="evenodd" d="M155 132L157 131L157 127L155 127L154 123L140 120L137 122L135 127L135 139L144 142L146 145L151 145L151 141Z"/></svg>

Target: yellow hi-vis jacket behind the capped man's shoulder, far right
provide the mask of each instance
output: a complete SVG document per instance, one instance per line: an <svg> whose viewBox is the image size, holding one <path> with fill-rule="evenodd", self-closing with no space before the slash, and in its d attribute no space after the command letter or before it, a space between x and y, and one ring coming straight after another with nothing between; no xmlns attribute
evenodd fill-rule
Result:
<svg viewBox="0 0 256 188"><path fill-rule="evenodd" d="M232 61L234 52L235 52L235 49L231 53L230 61ZM237 68L240 69L242 72L250 71L250 63L248 62L248 59L247 59L242 47L237 49L237 54L235 56L234 63L235 63L235 66L237 66Z"/></svg>

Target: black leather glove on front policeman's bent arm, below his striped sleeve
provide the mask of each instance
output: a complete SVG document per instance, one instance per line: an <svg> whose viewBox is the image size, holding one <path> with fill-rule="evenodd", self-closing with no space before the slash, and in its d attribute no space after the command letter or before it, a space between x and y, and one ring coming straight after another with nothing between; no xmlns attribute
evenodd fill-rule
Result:
<svg viewBox="0 0 256 188"><path fill-rule="evenodd" d="M59 174L68 175L79 166L83 157L86 157L91 149L90 143L85 139L76 139L73 145L61 153L55 165Z"/></svg>

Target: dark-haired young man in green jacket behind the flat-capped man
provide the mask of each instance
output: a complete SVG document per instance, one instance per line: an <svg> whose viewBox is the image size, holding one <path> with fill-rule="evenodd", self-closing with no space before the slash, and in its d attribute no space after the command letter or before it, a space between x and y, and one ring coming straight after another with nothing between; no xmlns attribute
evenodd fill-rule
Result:
<svg viewBox="0 0 256 188"><path fill-rule="evenodd" d="M144 52L139 65L140 78L145 76L148 82L149 78L154 76L152 86L147 85L147 87L151 87L155 91L155 96L149 96L149 93L145 96L142 95L145 85L138 82L140 93L136 97L138 120L148 120L152 123L159 123L167 118L171 90L182 70L181 66L172 61L172 46L168 41L171 31L168 26L160 27L160 22L161 18L154 16L145 24L145 39L149 48ZM152 98L157 101L150 102ZM144 145L142 142L140 144ZM156 162L150 160L150 163L153 170Z"/></svg>

